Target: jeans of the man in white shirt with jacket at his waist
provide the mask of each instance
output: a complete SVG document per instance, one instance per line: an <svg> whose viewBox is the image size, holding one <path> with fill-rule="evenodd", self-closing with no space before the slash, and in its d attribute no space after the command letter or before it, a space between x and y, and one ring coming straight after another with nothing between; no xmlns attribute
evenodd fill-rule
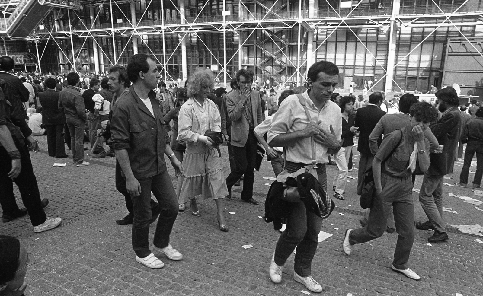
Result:
<svg viewBox="0 0 483 296"><path fill-rule="evenodd" d="M290 161L286 162L285 169L295 172L305 166ZM317 175L327 194L327 172L325 164L318 164ZM283 266L288 257L297 247L294 270L301 277L312 274L312 259L317 251L318 236L322 227L322 218L311 211L307 211L303 202L293 203L292 211L287 217L287 226L280 235L275 247L275 263Z"/></svg>

